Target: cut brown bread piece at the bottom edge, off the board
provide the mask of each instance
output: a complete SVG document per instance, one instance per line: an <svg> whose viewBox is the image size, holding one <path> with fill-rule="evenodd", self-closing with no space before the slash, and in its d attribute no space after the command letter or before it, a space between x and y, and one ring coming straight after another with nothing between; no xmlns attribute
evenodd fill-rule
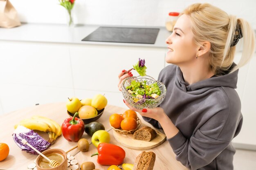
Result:
<svg viewBox="0 0 256 170"><path fill-rule="evenodd" d="M155 165L154 152L141 152L135 159L132 170L153 170Z"/></svg>

